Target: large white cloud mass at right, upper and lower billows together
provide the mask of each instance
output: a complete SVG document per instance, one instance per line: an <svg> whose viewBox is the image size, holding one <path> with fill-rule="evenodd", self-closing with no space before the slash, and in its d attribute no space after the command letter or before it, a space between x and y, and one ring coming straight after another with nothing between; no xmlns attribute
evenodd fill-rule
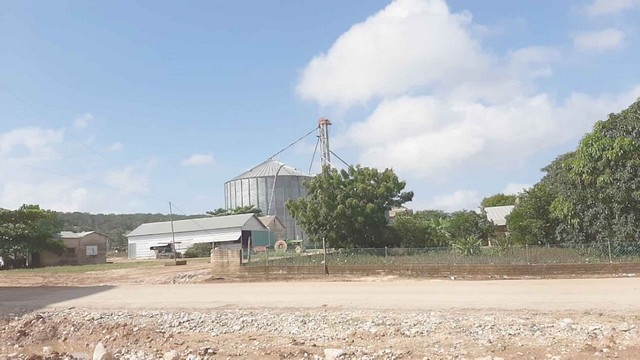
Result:
<svg viewBox="0 0 640 360"><path fill-rule="evenodd" d="M394 1L313 58L298 93L320 105L372 103L333 143L355 149L364 165L439 180L575 141L640 95L640 86L561 98L541 92L536 80L552 74L559 50L495 54L482 49L474 27L443 0Z"/></svg>

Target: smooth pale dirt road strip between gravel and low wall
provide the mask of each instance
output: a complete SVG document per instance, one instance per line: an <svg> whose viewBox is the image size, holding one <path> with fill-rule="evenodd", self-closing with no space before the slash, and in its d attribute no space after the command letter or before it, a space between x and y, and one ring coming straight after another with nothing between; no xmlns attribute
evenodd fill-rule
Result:
<svg viewBox="0 0 640 360"><path fill-rule="evenodd" d="M640 314L640 278L394 280L0 288L0 310L318 308L599 310Z"/></svg>

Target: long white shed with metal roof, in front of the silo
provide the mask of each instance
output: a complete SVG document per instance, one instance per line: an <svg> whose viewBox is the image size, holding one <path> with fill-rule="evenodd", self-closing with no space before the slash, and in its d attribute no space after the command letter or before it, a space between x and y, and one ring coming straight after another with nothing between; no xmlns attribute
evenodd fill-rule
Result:
<svg viewBox="0 0 640 360"><path fill-rule="evenodd" d="M193 244L214 243L227 248L246 247L251 231L266 231L255 214L241 214L173 222L176 250L184 252ZM129 259L153 259L151 247L173 242L171 222L147 223L127 234ZM244 245L244 246L243 246Z"/></svg>

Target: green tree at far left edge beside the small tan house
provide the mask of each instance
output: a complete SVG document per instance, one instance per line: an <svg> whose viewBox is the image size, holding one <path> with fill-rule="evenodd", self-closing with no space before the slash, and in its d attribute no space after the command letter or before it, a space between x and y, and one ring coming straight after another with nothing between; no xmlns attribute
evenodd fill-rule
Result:
<svg viewBox="0 0 640 360"><path fill-rule="evenodd" d="M0 209L0 256L18 259L38 251L62 251L61 228L57 215L38 205Z"/></svg>

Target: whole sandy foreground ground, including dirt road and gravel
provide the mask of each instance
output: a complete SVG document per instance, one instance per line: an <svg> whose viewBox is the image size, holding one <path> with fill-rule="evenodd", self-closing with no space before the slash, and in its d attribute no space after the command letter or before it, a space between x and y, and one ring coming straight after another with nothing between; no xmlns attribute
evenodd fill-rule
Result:
<svg viewBox="0 0 640 360"><path fill-rule="evenodd" d="M227 282L208 268L0 273L0 360L36 359L43 346L90 357L98 341L127 360L170 350L322 359L330 349L341 359L640 358L640 278Z"/></svg>

